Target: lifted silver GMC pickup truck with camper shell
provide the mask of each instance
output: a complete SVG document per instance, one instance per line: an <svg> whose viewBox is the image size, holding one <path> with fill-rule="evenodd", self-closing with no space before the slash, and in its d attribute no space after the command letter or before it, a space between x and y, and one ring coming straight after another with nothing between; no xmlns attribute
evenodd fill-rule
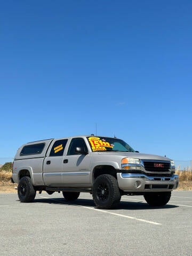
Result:
<svg viewBox="0 0 192 256"><path fill-rule="evenodd" d="M92 194L100 209L111 209L122 195L143 195L152 206L169 202L178 187L174 162L141 154L117 138L83 135L29 142L15 155L12 180L21 202L33 202L36 191L62 191L66 201Z"/></svg>

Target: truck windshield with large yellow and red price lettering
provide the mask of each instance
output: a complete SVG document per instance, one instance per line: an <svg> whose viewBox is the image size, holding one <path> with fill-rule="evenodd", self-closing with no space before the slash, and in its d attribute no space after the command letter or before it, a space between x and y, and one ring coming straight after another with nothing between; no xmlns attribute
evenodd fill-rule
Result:
<svg viewBox="0 0 192 256"><path fill-rule="evenodd" d="M87 137L92 151L135 152L125 141L108 137Z"/></svg>

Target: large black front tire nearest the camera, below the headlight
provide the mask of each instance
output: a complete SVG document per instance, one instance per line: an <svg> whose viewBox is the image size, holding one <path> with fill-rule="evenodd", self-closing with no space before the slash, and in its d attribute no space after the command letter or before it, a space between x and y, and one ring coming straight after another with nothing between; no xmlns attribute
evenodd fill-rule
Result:
<svg viewBox="0 0 192 256"><path fill-rule="evenodd" d="M116 207L121 200L117 179L109 174L98 176L93 184L92 196L99 209Z"/></svg>

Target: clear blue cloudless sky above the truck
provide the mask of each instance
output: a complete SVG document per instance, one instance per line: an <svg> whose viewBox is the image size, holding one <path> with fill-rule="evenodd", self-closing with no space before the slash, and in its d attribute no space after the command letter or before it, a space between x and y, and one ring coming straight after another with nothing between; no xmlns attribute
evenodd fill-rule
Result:
<svg viewBox="0 0 192 256"><path fill-rule="evenodd" d="M79 134L192 159L192 1L2 1L0 158ZM0 159L0 163L1 163Z"/></svg>

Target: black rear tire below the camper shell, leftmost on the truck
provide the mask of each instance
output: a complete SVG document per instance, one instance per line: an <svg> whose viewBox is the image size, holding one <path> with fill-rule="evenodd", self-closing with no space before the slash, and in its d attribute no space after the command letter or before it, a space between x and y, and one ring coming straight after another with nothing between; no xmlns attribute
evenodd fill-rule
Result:
<svg viewBox="0 0 192 256"><path fill-rule="evenodd" d="M34 201L36 191L30 177L22 177L18 184L18 197L22 203L31 203Z"/></svg>

